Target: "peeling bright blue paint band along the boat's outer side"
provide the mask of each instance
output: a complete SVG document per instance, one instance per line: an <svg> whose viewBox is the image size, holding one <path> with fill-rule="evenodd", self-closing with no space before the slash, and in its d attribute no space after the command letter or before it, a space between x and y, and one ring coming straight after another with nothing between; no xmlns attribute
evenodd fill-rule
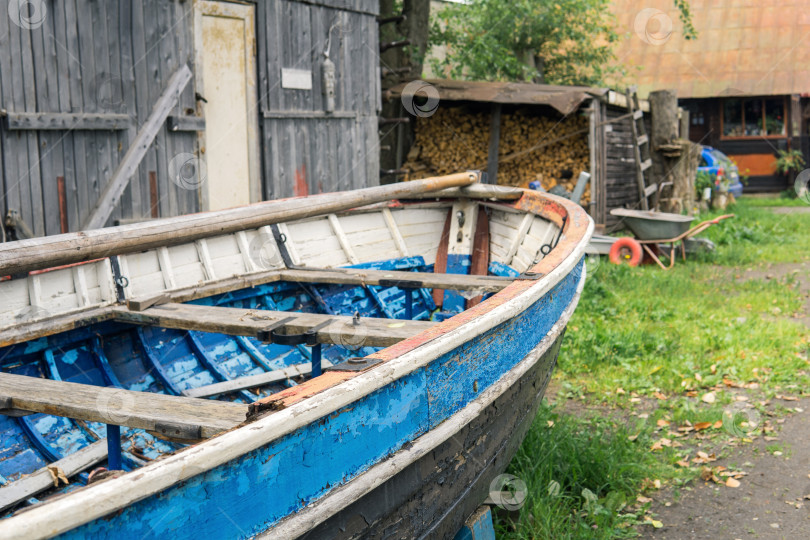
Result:
<svg viewBox="0 0 810 540"><path fill-rule="evenodd" d="M478 396L546 335L572 299L581 272L580 263L535 305L482 339L266 447L64 537L100 538L114 531L123 538L247 538L261 532Z"/></svg>

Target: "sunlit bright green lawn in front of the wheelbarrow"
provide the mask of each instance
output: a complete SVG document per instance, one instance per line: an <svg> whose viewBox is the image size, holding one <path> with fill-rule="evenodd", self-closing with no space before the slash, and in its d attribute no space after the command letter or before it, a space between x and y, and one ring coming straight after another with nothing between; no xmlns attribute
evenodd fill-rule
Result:
<svg viewBox="0 0 810 540"><path fill-rule="evenodd" d="M569 324L557 378L610 403L631 392L699 390L723 376L764 387L806 382L797 373L808 367L800 356L807 329L790 318L804 300L795 279L738 276L748 268L767 275L769 260L810 259L810 215L745 202L734 211L708 231L715 253L667 272L603 258Z"/></svg>

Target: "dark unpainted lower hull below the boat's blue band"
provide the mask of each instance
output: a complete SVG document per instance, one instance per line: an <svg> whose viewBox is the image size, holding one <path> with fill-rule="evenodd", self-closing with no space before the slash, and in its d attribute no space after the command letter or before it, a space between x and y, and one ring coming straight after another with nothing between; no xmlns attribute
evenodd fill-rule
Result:
<svg viewBox="0 0 810 540"><path fill-rule="evenodd" d="M459 432L301 538L389 538L392 531L398 537L453 538L489 497L493 479L506 470L523 441L561 342L562 335Z"/></svg>

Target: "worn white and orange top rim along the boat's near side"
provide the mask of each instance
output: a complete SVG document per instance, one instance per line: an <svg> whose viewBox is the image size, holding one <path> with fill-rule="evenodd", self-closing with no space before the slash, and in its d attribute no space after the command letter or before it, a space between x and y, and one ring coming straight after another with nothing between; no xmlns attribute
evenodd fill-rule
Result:
<svg viewBox="0 0 810 540"><path fill-rule="evenodd" d="M579 263L593 232L593 222L579 206L549 194L526 191L517 201L501 204L542 216L563 227L556 248L531 268L542 276L539 279L514 281L481 304L370 355L382 361L373 369L361 373L332 372L342 376L321 382L314 379L292 389L290 397L311 396L308 399L286 400L287 408L153 462L139 469L137 475L123 475L77 490L70 496L32 508L24 516L0 522L0 535L52 536L126 507L335 412L522 313Z"/></svg>

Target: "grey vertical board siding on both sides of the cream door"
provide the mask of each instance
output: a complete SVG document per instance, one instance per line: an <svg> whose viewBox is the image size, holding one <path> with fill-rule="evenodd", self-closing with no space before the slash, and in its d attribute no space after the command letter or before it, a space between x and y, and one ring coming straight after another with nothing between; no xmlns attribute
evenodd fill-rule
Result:
<svg viewBox="0 0 810 540"><path fill-rule="evenodd" d="M56 179L64 176L76 231L168 79L184 63L194 69L193 3L44 0L44 23L22 29L7 16L10 1L0 0L0 108L133 119L118 131L11 131L0 122L0 211L18 211L37 235L58 234ZM294 195L302 183L310 193L379 184L378 0L268 0L256 10L264 198ZM326 115L321 62L333 25L337 96ZM312 90L282 89L282 67L312 70ZM194 114L194 93L190 83L171 114ZM150 217L150 171L160 216L197 211L198 193L168 174L174 156L197 146L195 132L164 125L110 222Z"/></svg>

